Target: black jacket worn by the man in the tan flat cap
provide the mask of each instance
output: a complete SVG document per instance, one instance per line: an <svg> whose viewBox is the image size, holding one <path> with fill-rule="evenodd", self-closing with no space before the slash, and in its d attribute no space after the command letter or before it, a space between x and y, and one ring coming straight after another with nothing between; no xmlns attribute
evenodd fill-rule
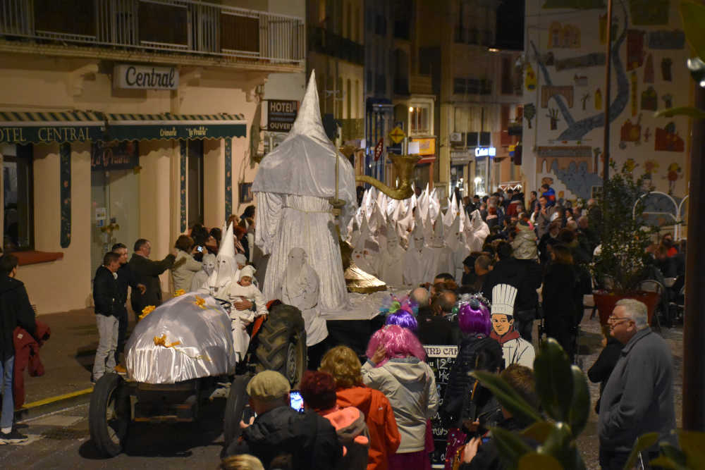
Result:
<svg viewBox="0 0 705 470"><path fill-rule="evenodd" d="M290 455L293 470L330 470L343 456L343 447L330 421L282 406L257 416L226 454L254 455L265 469L275 457Z"/></svg>

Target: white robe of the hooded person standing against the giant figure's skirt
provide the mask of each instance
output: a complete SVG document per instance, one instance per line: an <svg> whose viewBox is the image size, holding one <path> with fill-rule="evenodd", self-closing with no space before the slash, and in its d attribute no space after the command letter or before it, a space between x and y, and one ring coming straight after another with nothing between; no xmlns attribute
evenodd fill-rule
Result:
<svg viewBox="0 0 705 470"><path fill-rule="evenodd" d="M281 286L281 301L301 311L307 346L317 345L328 337L328 326L317 308L319 285L316 271L304 264L295 279L284 279Z"/></svg>

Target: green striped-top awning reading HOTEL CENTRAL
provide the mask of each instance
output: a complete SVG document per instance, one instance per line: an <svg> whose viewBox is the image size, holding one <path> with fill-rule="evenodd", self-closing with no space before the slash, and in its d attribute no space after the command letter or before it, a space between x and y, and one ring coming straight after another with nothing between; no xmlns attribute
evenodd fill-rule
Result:
<svg viewBox="0 0 705 470"><path fill-rule="evenodd" d="M105 120L92 111L0 111L0 143L46 144L102 140Z"/></svg>

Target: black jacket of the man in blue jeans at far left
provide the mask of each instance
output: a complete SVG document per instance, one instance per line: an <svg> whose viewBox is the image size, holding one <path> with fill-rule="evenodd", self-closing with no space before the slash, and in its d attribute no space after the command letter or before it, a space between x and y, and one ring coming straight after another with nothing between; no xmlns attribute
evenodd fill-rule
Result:
<svg viewBox="0 0 705 470"><path fill-rule="evenodd" d="M0 276L0 359L6 361L15 355L13 331L21 326L35 334L35 311L27 297L22 281Z"/></svg>

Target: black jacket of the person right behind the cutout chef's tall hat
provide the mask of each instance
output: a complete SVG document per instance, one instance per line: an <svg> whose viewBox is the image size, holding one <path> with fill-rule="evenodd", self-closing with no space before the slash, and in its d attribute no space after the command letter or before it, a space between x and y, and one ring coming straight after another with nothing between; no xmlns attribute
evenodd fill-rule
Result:
<svg viewBox="0 0 705 470"><path fill-rule="evenodd" d="M482 285L482 293L490 302L492 289L498 284L517 288L514 311L535 309L539 304L536 290L541 285L541 267L531 259L503 259L487 274Z"/></svg>

